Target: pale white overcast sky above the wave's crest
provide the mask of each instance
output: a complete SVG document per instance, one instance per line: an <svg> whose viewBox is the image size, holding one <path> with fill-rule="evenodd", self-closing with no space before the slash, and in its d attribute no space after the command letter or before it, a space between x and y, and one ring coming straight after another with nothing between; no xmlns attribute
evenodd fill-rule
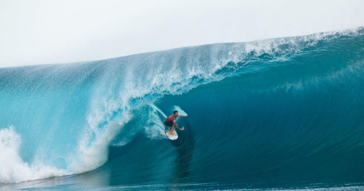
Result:
<svg viewBox="0 0 364 191"><path fill-rule="evenodd" d="M0 0L0 68L364 26L364 0Z"/></svg>

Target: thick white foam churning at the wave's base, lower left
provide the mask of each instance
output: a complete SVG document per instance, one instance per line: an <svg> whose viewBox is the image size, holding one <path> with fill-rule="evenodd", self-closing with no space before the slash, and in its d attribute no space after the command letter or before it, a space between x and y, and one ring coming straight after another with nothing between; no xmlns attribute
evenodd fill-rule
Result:
<svg viewBox="0 0 364 191"><path fill-rule="evenodd" d="M71 152L68 156L71 162L66 169L47 166L36 160L31 165L23 162L19 155L20 135L13 127L2 129L0 153L5 157L0 157L0 183L23 182L94 170L107 162L108 145L131 118L132 115L126 112L122 119L110 121L103 129L95 126L87 128L79 140L76 152Z"/></svg>

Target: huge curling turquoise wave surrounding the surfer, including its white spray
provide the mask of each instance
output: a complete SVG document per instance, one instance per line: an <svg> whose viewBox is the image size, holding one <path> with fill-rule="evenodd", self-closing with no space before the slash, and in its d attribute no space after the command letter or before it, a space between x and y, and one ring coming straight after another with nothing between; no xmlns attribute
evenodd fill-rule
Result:
<svg viewBox="0 0 364 191"><path fill-rule="evenodd" d="M0 182L363 183L363 98L363 27L0 68Z"/></svg>

